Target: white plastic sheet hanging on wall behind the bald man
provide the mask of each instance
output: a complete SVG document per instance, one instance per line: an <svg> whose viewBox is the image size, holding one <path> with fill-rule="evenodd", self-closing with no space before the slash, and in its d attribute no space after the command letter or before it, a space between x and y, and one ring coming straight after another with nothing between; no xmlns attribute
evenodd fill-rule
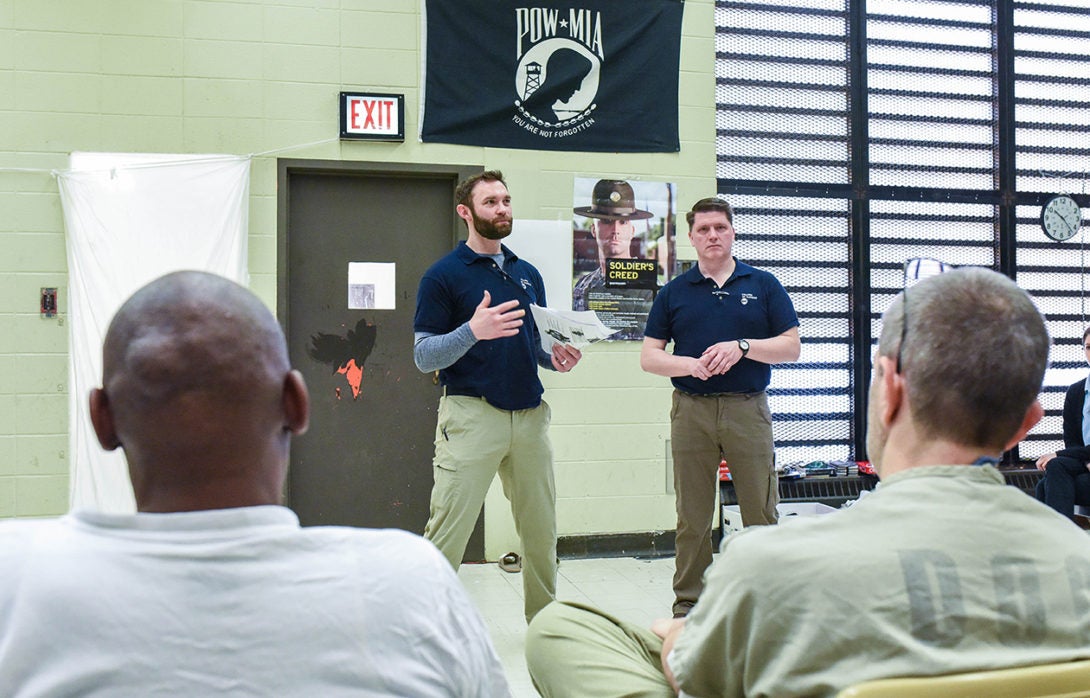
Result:
<svg viewBox="0 0 1090 698"><path fill-rule="evenodd" d="M58 173L69 264L69 501L130 513L124 456L99 447L87 416L87 396L101 383L106 329L133 291L170 272L202 269L247 284L250 159L73 153L69 164Z"/></svg>

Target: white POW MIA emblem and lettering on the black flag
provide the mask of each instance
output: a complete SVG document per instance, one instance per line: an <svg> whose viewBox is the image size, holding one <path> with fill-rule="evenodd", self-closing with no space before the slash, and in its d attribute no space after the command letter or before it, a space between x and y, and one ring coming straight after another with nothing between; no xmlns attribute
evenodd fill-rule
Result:
<svg viewBox="0 0 1090 698"><path fill-rule="evenodd" d="M602 13L516 8L514 19L514 123L541 139L564 139L593 128L605 60Z"/></svg>

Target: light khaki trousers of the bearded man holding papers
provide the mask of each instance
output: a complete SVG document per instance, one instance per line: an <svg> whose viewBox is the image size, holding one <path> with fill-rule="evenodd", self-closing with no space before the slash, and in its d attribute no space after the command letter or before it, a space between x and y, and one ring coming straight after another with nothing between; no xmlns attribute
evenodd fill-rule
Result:
<svg viewBox="0 0 1090 698"><path fill-rule="evenodd" d="M556 598L556 485L548 438L550 411L501 410L479 397L439 398L431 517L424 538L455 569L499 474L522 542L522 589L529 622Z"/></svg>

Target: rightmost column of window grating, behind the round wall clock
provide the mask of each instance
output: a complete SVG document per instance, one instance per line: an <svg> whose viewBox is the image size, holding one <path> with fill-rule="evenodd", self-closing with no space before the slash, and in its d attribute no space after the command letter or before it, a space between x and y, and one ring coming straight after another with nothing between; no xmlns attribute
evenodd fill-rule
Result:
<svg viewBox="0 0 1090 698"><path fill-rule="evenodd" d="M1090 4L1074 4L1015 3L1019 190L1088 193L1090 31L1086 27L1090 25ZM1027 437L1033 445L1032 455L1063 446L1064 393L1087 375L1081 339L1088 324L1090 263L1090 232L1083 230L1067 242L1053 242L1042 234L1039 216L1039 205L1017 207L1018 282L1038 301L1053 337L1052 363L1041 395L1045 418Z"/></svg>

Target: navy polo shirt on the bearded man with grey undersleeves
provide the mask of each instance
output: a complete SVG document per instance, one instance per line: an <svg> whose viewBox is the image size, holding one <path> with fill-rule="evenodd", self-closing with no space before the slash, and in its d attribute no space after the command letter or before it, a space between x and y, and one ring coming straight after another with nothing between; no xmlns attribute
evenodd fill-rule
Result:
<svg viewBox="0 0 1090 698"><path fill-rule="evenodd" d="M485 290L492 294L492 305L519 301L519 308L526 312L519 334L477 341L465 356L439 371L439 382L471 390L494 407L524 410L541 405L545 392L537 377L541 339L530 313L531 303L545 306L545 282L532 264L506 245L500 249L502 270L464 241L433 264L416 291L413 330L433 335L453 332L473 316Z"/></svg>

